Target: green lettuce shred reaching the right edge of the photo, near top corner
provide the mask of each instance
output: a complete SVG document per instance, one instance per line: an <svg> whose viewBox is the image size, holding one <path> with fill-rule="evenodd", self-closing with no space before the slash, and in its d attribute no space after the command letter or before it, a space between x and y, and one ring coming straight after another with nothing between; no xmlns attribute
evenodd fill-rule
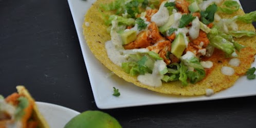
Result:
<svg viewBox="0 0 256 128"><path fill-rule="evenodd" d="M252 22L256 21L256 11L252 11L250 13L247 13L245 15L238 15L235 16L237 21L241 21L247 24L251 24Z"/></svg>

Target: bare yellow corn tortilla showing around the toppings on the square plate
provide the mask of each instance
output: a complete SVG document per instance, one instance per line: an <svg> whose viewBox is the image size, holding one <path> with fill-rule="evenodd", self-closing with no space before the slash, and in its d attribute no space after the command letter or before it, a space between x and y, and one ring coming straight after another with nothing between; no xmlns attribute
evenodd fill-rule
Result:
<svg viewBox="0 0 256 128"><path fill-rule="evenodd" d="M92 7L88 10L84 18L83 24L83 34L89 49L93 52L95 57L108 69L112 70L117 76L123 78L127 82L134 83L135 85L155 92L163 94L173 94L173 95L182 95L182 96L195 96L195 95L204 95L206 94L206 89L213 89L214 92L219 92L226 88L232 86L235 81L242 75L245 74L248 68L250 68L251 63L254 61L254 56L256 53L256 36L253 37L242 37L235 39L235 41L240 44L246 45L247 47L242 49L239 53L239 59L241 61L239 67L233 67L235 70L234 75L226 76L221 72L223 66L229 66L229 58L225 58L225 53L221 50L215 48L213 56L210 58L204 58L204 60L209 60L213 62L213 67L209 70L206 70L207 76L204 80L196 83L189 84L188 86L182 86L180 81L173 81L162 83L160 87L152 87L140 83L137 80L137 77L132 77L129 74L126 74L121 67L112 63L108 59L107 52L105 49L105 42L111 40L111 36L107 33L107 26L104 25L104 21L101 18L101 13L99 11L100 4L109 3L106 0L96 1ZM233 17L235 15L245 14L243 10L239 10L232 15L225 15L219 13L223 18ZM252 24L237 23L240 30L252 30L255 31L255 28ZM232 66L231 66L232 67Z"/></svg>

